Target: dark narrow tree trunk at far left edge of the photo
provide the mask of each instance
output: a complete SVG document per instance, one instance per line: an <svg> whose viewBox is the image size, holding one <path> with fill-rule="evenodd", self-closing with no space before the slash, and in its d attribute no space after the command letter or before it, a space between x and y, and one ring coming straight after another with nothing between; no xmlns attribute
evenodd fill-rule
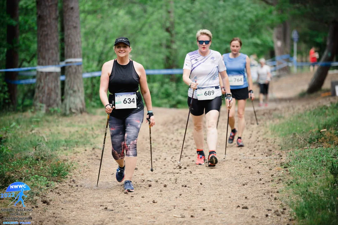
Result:
<svg viewBox="0 0 338 225"><path fill-rule="evenodd" d="M16 22L7 25L6 68L17 68L19 65L19 0L7 0L6 12ZM17 80L18 72L6 72L5 80ZM9 107L17 107L17 85L7 83L9 93Z"/></svg>

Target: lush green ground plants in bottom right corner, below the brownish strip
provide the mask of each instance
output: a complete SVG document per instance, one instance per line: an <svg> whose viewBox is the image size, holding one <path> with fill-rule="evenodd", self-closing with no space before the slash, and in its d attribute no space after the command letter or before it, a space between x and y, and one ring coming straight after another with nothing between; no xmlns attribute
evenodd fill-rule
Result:
<svg viewBox="0 0 338 225"><path fill-rule="evenodd" d="M300 224L338 223L337 157L333 148L290 153L287 168L292 182L286 191L292 191L289 201Z"/></svg>

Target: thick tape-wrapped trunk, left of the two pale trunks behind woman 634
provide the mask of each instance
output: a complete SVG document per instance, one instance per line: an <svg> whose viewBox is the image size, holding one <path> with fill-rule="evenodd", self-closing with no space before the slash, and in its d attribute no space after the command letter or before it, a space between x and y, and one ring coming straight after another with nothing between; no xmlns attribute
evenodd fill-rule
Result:
<svg viewBox="0 0 338 225"><path fill-rule="evenodd" d="M38 65L58 65L57 0L37 0ZM47 112L61 106L60 67L37 69L34 106Z"/></svg>

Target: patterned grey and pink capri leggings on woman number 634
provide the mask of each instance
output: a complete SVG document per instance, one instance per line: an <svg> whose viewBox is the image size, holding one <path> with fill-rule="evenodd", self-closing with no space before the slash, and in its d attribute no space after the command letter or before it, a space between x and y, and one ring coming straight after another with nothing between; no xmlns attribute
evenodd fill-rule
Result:
<svg viewBox="0 0 338 225"><path fill-rule="evenodd" d="M144 110L131 114L125 119L109 117L110 136L112 139L112 155L115 160L137 157L136 142L143 122Z"/></svg>

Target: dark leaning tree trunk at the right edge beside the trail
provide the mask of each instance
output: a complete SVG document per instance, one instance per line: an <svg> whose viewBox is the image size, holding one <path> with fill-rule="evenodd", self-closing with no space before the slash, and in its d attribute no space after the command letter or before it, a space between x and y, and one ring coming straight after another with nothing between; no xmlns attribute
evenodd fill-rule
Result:
<svg viewBox="0 0 338 225"><path fill-rule="evenodd" d="M333 21L329 27L326 49L320 62L332 61L334 56L337 54L337 48L338 48L338 21ZM326 76L328 75L329 69L330 66L318 66L306 91L307 93L313 93L320 90L320 88L323 86Z"/></svg>

